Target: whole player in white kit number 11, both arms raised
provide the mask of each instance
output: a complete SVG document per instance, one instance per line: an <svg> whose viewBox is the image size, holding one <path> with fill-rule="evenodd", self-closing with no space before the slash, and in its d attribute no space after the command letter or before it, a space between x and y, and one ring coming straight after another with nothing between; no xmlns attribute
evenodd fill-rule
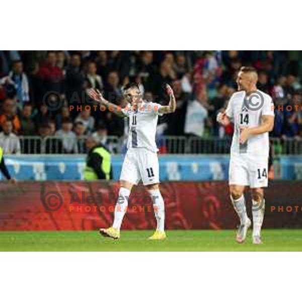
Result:
<svg viewBox="0 0 302 302"><path fill-rule="evenodd" d="M167 85L167 93L170 96L168 106L142 99L139 86L136 83L124 87L124 94L131 106L124 109L105 100L101 93L89 89L89 96L114 109L116 114L129 118L129 135L127 142L127 153L122 165L120 175L120 190L114 210L113 225L108 229L100 229L100 234L113 239L120 238L120 228L124 214L128 206L128 199L133 185L140 180L153 200L157 229L149 237L150 240L166 239L165 233L165 203L159 189L159 161L158 148L155 141L158 116L171 113L176 110L176 100L172 88ZM111 110L112 110L111 109Z"/></svg>

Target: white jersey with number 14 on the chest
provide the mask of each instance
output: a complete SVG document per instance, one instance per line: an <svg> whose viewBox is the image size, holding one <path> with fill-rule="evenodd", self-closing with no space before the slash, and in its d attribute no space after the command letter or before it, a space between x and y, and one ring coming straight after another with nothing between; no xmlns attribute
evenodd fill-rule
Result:
<svg viewBox="0 0 302 302"><path fill-rule="evenodd" d="M261 124L262 115L274 115L272 98L257 90L245 100L246 92L235 92L226 108L226 115L234 122L234 135L231 146L231 156L249 154L253 156L269 155L268 132L251 136L246 143L240 144L240 126L253 128ZM263 104L262 104L263 103ZM262 105L261 105L262 104Z"/></svg>

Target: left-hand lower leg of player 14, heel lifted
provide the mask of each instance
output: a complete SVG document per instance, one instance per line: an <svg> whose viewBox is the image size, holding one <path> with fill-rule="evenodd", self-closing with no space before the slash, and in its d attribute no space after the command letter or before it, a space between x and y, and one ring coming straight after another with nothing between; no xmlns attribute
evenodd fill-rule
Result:
<svg viewBox="0 0 302 302"><path fill-rule="evenodd" d="M238 243L243 243L246 239L248 229L251 226L251 220L247 215L245 199L244 199L244 186L230 185L231 200L235 211L240 218L240 226L236 236Z"/></svg>

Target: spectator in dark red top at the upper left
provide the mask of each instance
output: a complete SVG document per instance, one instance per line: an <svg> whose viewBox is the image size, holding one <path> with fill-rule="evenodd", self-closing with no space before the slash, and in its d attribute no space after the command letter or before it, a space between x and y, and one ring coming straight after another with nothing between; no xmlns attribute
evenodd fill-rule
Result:
<svg viewBox="0 0 302 302"><path fill-rule="evenodd" d="M46 62L40 65L37 77L42 81L44 93L51 90L59 93L63 91L64 75L56 66L56 61L55 51L48 51Z"/></svg>

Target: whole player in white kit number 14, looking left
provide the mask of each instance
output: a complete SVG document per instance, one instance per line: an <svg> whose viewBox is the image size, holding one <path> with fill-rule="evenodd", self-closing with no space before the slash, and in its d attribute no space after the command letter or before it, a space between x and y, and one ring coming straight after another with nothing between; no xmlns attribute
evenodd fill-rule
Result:
<svg viewBox="0 0 302 302"><path fill-rule="evenodd" d="M255 68L242 67L237 76L239 91L232 95L225 112L217 115L217 121L223 125L234 123L229 185L231 200L240 218L238 243L245 241L251 226L243 194L246 186L251 189L253 203L253 243L261 243L263 188L268 185L268 132L274 127L274 109L271 97L257 90L257 81Z"/></svg>

